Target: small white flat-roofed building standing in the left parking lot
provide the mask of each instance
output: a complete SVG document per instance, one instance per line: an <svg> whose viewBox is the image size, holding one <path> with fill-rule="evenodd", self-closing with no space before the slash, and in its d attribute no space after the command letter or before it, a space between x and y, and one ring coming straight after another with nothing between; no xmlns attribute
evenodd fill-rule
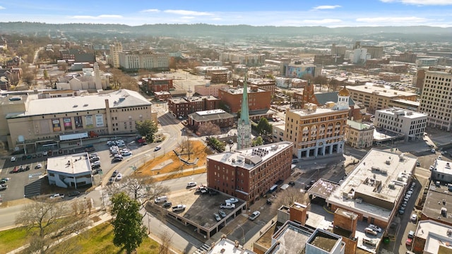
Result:
<svg viewBox="0 0 452 254"><path fill-rule="evenodd" d="M78 188L93 183L88 153L49 157L47 159L49 184L61 188Z"/></svg>

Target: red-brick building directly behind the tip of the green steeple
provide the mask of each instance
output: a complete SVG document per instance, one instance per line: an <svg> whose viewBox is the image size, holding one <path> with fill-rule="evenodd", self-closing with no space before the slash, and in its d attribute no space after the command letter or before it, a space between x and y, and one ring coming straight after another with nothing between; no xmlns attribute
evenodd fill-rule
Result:
<svg viewBox="0 0 452 254"><path fill-rule="evenodd" d="M247 88L249 111L270 109L271 92L259 89L256 85ZM242 105L243 87L218 90L218 97L229 108L231 114L237 113Z"/></svg>

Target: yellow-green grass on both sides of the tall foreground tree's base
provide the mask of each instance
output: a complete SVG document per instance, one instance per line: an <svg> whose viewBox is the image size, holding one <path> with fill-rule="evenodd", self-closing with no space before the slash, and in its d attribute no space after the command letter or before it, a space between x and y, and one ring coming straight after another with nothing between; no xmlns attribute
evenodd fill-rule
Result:
<svg viewBox="0 0 452 254"><path fill-rule="evenodd" d="M67 246L75 248L73 253L121 253L125 254L126 250L122 250L113 244L113 226L109 222L93 227L83 232L80 236L75 236L68 241L61 243L57 248L52 248L49 253L61 253ZM138 254L158 253L159 244L151 238L145 238L141 246L138 247Z"/></svg>

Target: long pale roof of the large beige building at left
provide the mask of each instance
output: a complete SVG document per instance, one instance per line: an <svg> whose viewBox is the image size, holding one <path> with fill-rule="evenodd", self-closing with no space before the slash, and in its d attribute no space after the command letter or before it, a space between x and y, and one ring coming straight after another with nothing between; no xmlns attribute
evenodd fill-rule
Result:
<svg viewBox="0 0 452 254"><path fill-rule="evenodd" d="M40 116L46 114L105 109L105 99L108 99L109 107L111 109L152 105L152 103L143 97L143 95L126 89L102 95L98 94L47 99L37 99L37 95L29 95L28 99L27 111L21 114L10 115L9 117ZM58 107L55 107L56 105L58 105Z"/></svg>

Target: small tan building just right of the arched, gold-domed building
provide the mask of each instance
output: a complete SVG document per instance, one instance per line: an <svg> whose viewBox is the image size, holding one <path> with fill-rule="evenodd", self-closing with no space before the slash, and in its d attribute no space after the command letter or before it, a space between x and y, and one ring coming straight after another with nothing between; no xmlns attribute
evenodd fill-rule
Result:
<svg viewBox="0 0 452 254"><path fill-rule="evenodd" d="M348 145L356 148L371 147L374 141L374 126L357 121L347 120L345 140Z"/></svg>

